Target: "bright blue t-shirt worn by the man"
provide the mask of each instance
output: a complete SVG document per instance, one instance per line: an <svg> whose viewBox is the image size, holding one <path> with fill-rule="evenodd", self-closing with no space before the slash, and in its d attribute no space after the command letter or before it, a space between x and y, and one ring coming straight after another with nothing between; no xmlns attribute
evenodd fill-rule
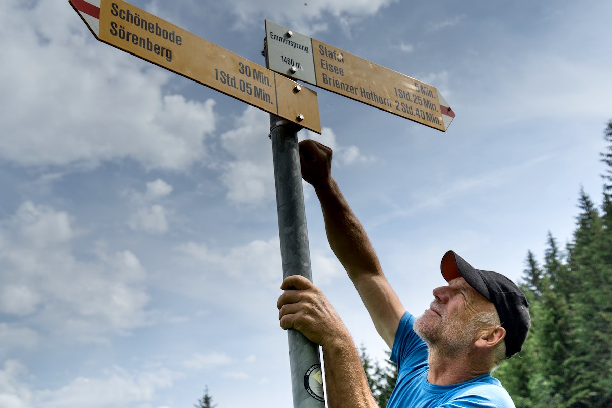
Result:
<svg viewBox="0 0 612 408"><path fill-rule="evenodd" d="M391 360L397 363L397 383L387 408L514 408L498 379L483 374L452 385L427 381L427 344L412 330L414 316L406 312L395 333Z"/></svg>

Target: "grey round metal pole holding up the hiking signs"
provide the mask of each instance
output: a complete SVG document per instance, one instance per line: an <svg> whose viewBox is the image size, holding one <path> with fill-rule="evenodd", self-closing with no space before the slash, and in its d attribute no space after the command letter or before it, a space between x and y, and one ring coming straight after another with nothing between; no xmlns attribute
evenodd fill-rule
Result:
<svg viewBox="0 0 612 408"><path fill-rule="evenodd" d="M289 275L303 275L312 281L302 168L297 143L299 129L293 123L270 115L283 279ZM288 329L287 334L293 407L324 408L319 346L295 329Z"/></svg>

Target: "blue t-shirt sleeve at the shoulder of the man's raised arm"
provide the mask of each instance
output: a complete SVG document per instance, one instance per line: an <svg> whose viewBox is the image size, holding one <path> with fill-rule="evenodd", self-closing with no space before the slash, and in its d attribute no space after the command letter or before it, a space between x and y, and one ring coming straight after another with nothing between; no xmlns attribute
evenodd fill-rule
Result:
<svg viewBox="0 0 612 408"><path fill-rule="evenodd" d="M412 330L414 321L414 316L406 311L395 332L390 360L397 364L399 371L427 365L427 344Z"/></svg>

